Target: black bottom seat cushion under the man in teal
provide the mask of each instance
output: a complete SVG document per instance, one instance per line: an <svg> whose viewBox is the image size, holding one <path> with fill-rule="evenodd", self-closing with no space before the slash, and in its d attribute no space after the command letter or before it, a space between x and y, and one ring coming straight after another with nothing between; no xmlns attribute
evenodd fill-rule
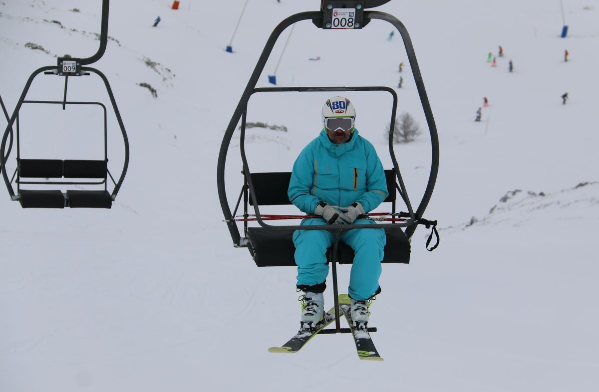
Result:
<svg viewBox="0 0 599 392"><path fill-rule="evenodd" d="M368 230L368 229L364 229ZM292 239L295 229L274 227L248 227L247 238L254 251L254 260L259 267L296 266L295 245ZM409 263L410 243L401 227L385 230L387 244L382 263ZM329 248L329 252L331 248ZM337 262L353 263L353 250L343 242L337 249Z"/></svg>

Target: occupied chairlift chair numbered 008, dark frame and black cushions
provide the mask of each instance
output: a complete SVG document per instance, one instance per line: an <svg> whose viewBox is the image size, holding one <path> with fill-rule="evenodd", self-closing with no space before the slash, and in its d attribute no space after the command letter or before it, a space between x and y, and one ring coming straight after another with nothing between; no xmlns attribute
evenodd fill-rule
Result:
<svg viewBox="0 0 599 392"><path fill-rule="evenodd" d="M225 222L231 234L234 247L248 248L253 260L258 267L263 266L296 266L294 260L295 247L292 242L292 234L295 230L327 230L334 235L334 243L327 252L328 262L332 267L332 280L333 290L335 299L335 329L323 330L320 333L339 333L349 332L347 329L340 328L340 317L339 317L339 304L338 304L338 288L337 288L337 263L352 263L353 250L339 241L341 233L346 230L352 229L385 229L387 236L387 244L385 247L385 257L383 263L409 263L410 261L410 239L416 230L418 224L425 224L427 227L433 226L433 232L436 233L435 225L436 221L428 221L423 218L423 213L428 205L428 202L432 195L432 190L435 185L438 171L438 159L439 159L439 145L437 128L435 126L434 118L432 116L431 107L426 96L426 91L418 68L418 62L416 61L416 55L410 41L410 37L407 33L404 25L397 20L394 16L382 13L380 11L367 11L368 8L378 7L379 5L385 4L389 0L322 0L320 11L308 11L303 13L294 14L287 19L279 23L278 26L271 33L268 41L262 51L261 56L258 59L258 63L247 83L246 89L241 95L241 99L235 109L231 121L229 121L228 127L223 136L223 141L220 146L219 158L217 163L217 188L219 192L220 205L222 207ZM355 18L351 21L352 26L347 26L348 21L340 21L335 19L334 11L342 9L353 13ZM339 13L337 13L339 15ZM347 14L346 14L347 15ZM401 177L400 168L398 166L397 159L394 153L394 125L395 125L395 112L397 110L397 93L394 89L389 87L329 87L329 86L316 86L316 87L261 87L256 88L258 78L264 70L264 66L268 60L268 57L273 50L274 44L279 38L280 34L289 26L302 20L311 20L317 28L332 29L338 26L343 26L345 23L346 28L362 29L371 22L371 20L380 19L391 23L398 32L400 32L403 38L404 45L406 47L407 56L410 61L410 66L413 71L415 78L416 87L420 97L423 111L425 113L426 122L428 124L429 134L431 138L432 148L432 162L431 170L429 173L428 184L426 185L425 192L422 196L422 200L418 205L416 211L413 211L412 204L407 195L404 181ZM289 185L289 179L291 178L290 172L262 172L252 173L247 162L244 138L246 129L246 114L247 114L247 103L251 96L255 93L277 93L277 92L361 92L361 91L382 91L388 92L392 96L393 105L391 112L391 127L389 129L389 153L393 162L393 168L389 168L385 171L389 196L385 199L385 202L391 203L392 213L406 217L406 221L377 225L322 225L322 226L274 226L267 224L264 217L260 213L260 206L263 205L289 205L287 190ZM235 132L235 127L241 121L240 127L240 153L241 160L243 162L243 185L241 186L241 192L237 198L237 203L234 206L234 211L231 212L229 207L228 197L225 189L225 162L227 153L229 150L229 144L231 138ZM399 197L398 197L399 196ZM396 206L398 200L402 200L406 206L407 212L396 212ZM240 221L235 219L235 216L240 208L243 200L243 217L249 217L249 207L253 207L255 212L255 220L259 226L249 227L247 220L243 221L243 236L240 233ZM431 233L432 236L432 233ZM429 237L429 241L430 241ZM438 235L437 235L438 244ZM428 245L428 242L427 242ZM429 250L432 250L432 247ZM376 328L369 328L368 330L374 331Z"/></svg>

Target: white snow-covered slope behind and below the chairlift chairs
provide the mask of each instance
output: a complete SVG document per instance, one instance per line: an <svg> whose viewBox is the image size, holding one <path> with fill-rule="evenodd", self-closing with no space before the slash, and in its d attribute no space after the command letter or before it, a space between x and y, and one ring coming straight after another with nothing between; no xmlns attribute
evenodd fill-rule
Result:
<svg viewBox="0 0 599 392"><path fill-rule="evenodd" d="M250 0L233 54L224 48L245 1L205 3L181 0L177 11L170 0L111 4L111 39L92 66L107 75L131 143L112 209L22 209L8 193L0 199L0 391L597 390L599 1L563 2L565 39L559 2L380 7L410 32L441 142L425 214L439 221L441 244L427 252L428 232L419 228L412 263L383 267L383 293L371 308L382 363L359 361L348 335L317 336L294 355L267 352L297 330L295 270L256 268L247 250L233 248L216 194L223 130L268 35L320 2ZM0 95L9 112L32 71L55 56L95 53L100 14L99 0L0 1ZM399 111L425 127L391 30L380 21L361 31L298 23L280 57L283 33L259 86L279 60L283 86L394 87L403 75ZM505 56L493 68L486 58L499 45ZM42 75L28 98L58 101L62 87L62 78ZM69 99L105 101L102 89L95 76L69 78ZM250 129L250 168L288 171L319 132L327 96L252 98L248 121L288 132ZM388 96L348 96L361 135L388 167ZM483 96L491 105L475 123ZM101 154L97 111L37 109L21 115L23 157ZM109 126L118 132L114 118ZM118 168L118 133L109 142ZM227 167L231 203L241 187L237 151ZM396 151L418 203L428 139ZM14 161L13 153L10 170ZM348 272L340 266L342 290ZM332 292L325 300L332 303Z"/></svg>

